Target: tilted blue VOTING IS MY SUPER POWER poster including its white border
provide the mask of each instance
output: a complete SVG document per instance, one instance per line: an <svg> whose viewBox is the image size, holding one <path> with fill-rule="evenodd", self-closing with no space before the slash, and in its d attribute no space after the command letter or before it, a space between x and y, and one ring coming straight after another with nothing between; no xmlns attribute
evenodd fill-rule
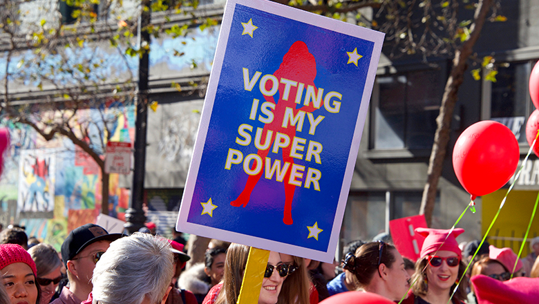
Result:
<svg viewBox="0 0 539 304"><path fill-rule="evenodd" d="M178 230L332 260L383 39L228 1Z"/></svg>

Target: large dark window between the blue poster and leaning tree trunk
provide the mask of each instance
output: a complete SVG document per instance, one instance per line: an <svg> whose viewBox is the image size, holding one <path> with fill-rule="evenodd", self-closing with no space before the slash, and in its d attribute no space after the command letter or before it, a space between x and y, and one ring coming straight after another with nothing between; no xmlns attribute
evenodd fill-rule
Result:
<svg viewBox="0 0 539 304"><path fill-rule="evenodd" d="M430 149L442 102L442 69L380 75L375 86L371 149Z"/></svg>

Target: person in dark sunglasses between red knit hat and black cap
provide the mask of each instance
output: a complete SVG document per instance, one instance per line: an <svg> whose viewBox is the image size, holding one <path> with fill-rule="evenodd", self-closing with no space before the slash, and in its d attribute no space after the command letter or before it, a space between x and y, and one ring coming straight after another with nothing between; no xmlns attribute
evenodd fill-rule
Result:
<svg viewBox="0 0 539 304"><path fill-rule="evenodd" d="M37 282L41 286L41 298L39 303L50 303L50 299L56 292L56 288L62 281L62 261L58 257L58 252L51 245L40 243L28 249L37 267Z"/></svg>

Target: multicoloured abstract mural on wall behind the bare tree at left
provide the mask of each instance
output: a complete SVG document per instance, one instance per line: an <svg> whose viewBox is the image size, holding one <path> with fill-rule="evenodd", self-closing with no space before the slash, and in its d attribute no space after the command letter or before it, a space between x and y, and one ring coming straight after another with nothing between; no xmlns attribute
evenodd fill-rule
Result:
<svg viewBox="0 0 539 304"><path fill-rule="evenodd" d="M135 106L115 104L104 111L116 117L108 125L113 141L133 142ZM78 122L97 122L89 138L102 132L103 115L82 110ZM110 117L109 117L110 118ZM0 223L26 227L35 236L60 249L68 231L95 222L101 210L101 171L95 161L66 137L45 142L23 124L3 122L10 130L11 146L0 179ZM89 140L89 139L88 139ZM97 146L97 145L96 145ZM99 151L102 153L102 151ZM109 178L109 215L125 220L129 189L119 187L119 175Z"/></svg>

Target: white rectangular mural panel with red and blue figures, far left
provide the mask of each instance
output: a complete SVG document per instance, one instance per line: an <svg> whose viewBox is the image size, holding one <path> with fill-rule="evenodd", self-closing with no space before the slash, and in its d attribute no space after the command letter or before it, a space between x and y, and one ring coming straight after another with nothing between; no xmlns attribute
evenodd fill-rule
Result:
<svg viewBox="0 0 539 304"><path fill-rule="evenodd" d="M17 210L54 211L56 151L21 151Z"/></svg>

